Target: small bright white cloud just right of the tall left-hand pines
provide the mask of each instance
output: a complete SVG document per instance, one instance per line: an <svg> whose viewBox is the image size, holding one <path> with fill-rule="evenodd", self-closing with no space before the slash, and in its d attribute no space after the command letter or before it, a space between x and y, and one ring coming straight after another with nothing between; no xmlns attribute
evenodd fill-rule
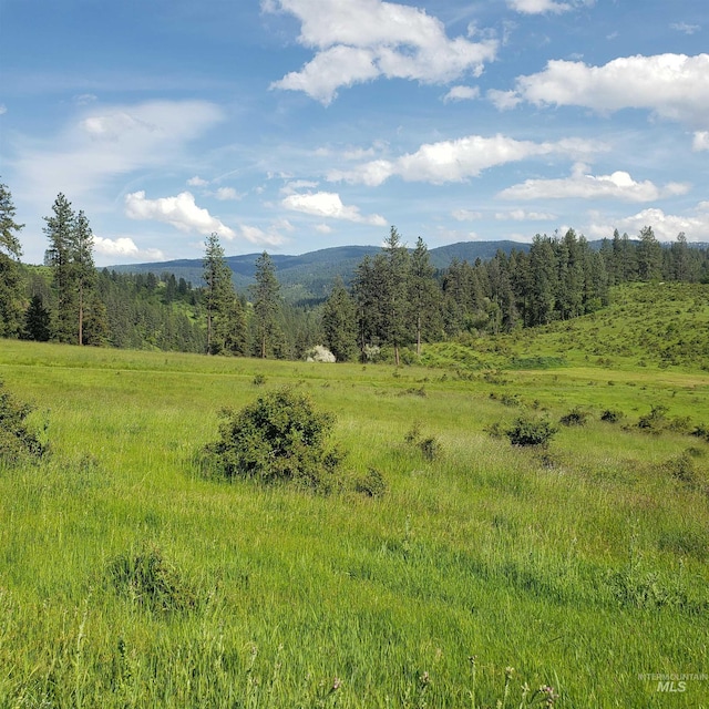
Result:
<svg viewBox="0 0 709 709"><path fill-rule="evenodd" d="M226 239L236 237L234 229L225 226L206 209L198 207L189 192L183 192L176 197L158 199L146 199L143 191L131 193L125 196L125 215L131 219L150 219L171 224L181 232L196 232L204 235L216 232Z"/></svg>

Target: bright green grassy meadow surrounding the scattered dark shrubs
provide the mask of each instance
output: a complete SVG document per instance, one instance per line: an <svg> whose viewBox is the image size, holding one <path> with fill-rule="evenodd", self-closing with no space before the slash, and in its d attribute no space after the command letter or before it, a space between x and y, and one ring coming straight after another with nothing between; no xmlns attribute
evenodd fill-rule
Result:
<svg viewBox="0 0 709 709"><path fill-rule="evenodd" d="M699 336L708 294L463 366L452 346L394 369L0 341L51 445L0 467L0 707L709 707L709 371L638 336L691 308ZM219 409L285 384L386 494L199 475ZM494 435L523 411L558 425L548 449ZM173 606L114 583L146 551Z"/></svg>

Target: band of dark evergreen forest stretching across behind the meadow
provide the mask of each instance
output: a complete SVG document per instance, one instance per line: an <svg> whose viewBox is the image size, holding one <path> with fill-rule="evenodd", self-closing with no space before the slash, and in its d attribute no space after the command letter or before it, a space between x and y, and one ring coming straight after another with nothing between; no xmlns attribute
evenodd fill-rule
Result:
<svg viewBox="0 0 709 709"><path fill-rule="evenodd" d="M286 302L267 253L254 284L237 292L216 234L201 282L173 274L97 269L83 212L62 194L44 218L43 266L21 263L12 196L0 185L0 336L38 341L210 354L300 359L325 346L338 361L392 360L424 342L566 320L603 308L629 281L709 282L709 250L684 234L660 244L615 232L594 248L583 235L536 235L531 244L474 263L435 268L422 238L409 248L394 227L349 282L335 277L320 301ZM320 351L320 350L319 350Z"/></svg>

